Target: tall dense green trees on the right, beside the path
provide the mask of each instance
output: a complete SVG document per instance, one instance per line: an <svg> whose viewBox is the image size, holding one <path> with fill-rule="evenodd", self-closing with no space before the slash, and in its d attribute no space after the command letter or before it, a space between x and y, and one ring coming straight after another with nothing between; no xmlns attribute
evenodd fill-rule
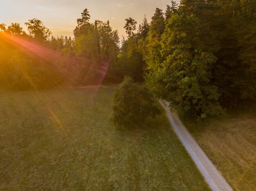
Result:
<svg viewBox="0 0 256 191"><path fill-rule="evenodd" d="M129 18L114 65L146 79L182 115L204 118L256 97L256 1L172 1L135 31Z"/></svg>

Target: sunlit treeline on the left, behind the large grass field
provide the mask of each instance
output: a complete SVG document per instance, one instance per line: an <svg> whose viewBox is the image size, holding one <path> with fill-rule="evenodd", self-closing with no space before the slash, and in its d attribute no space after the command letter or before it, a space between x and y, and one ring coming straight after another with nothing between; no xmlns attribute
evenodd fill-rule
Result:
<svg viewBox="0 0 256 191"><path fill-rule="evenodd" d="M119 37L110 23L90 23L85 9L77 19L74 38L54 37L43 22L0 24L0 86L16 90L59 85L101 84L117 59Z"/></svg>

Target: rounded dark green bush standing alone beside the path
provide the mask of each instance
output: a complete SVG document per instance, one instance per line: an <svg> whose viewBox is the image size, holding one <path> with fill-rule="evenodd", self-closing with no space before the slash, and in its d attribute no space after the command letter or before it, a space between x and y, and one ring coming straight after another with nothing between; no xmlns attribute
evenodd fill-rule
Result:
<svg viewBox="0 0 256 191"><path fill-rule="evenodd" d="M132 124L143 122L147 117L160 114L153 94L126 76L113 94L111 121L117 127L130 127Z"/></svg>

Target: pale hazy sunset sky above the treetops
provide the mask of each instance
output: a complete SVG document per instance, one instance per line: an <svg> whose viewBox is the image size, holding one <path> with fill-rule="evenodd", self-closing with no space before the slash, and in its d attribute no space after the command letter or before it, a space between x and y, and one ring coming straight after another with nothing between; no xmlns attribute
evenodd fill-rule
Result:
<svg viewBox="0 0 256 191"><path fill-rule="evenodd" d="M121 38L127 36L124 29L126 18L131 17L139 24L146 14L150 21L155 8L165 11L166 4L171 4L171 0L0 0L0 23L8 26L17 22L26 31L24 23L37 18L55 37L73 37L76 19L81 18L81 13L87 8L90 22L109 20Z"/></svg>

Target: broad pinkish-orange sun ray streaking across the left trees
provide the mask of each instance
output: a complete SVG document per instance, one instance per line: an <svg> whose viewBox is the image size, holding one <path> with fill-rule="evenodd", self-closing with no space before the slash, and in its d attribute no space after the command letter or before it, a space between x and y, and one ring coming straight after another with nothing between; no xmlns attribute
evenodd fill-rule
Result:
<svg viewBox="0 0 256 191"><path fill-rule="evenodd" d="M65 79L64 86L77 86L82 71L86 69L87 73L84 74L83 80L79 85L94 85L98 90L108 71L109 63L106 61L95 63L85 58L60 53L34 41L8 33L4 33L3 36L3 40L29 57L40 61L45 68L61 73Z"/></svg>

